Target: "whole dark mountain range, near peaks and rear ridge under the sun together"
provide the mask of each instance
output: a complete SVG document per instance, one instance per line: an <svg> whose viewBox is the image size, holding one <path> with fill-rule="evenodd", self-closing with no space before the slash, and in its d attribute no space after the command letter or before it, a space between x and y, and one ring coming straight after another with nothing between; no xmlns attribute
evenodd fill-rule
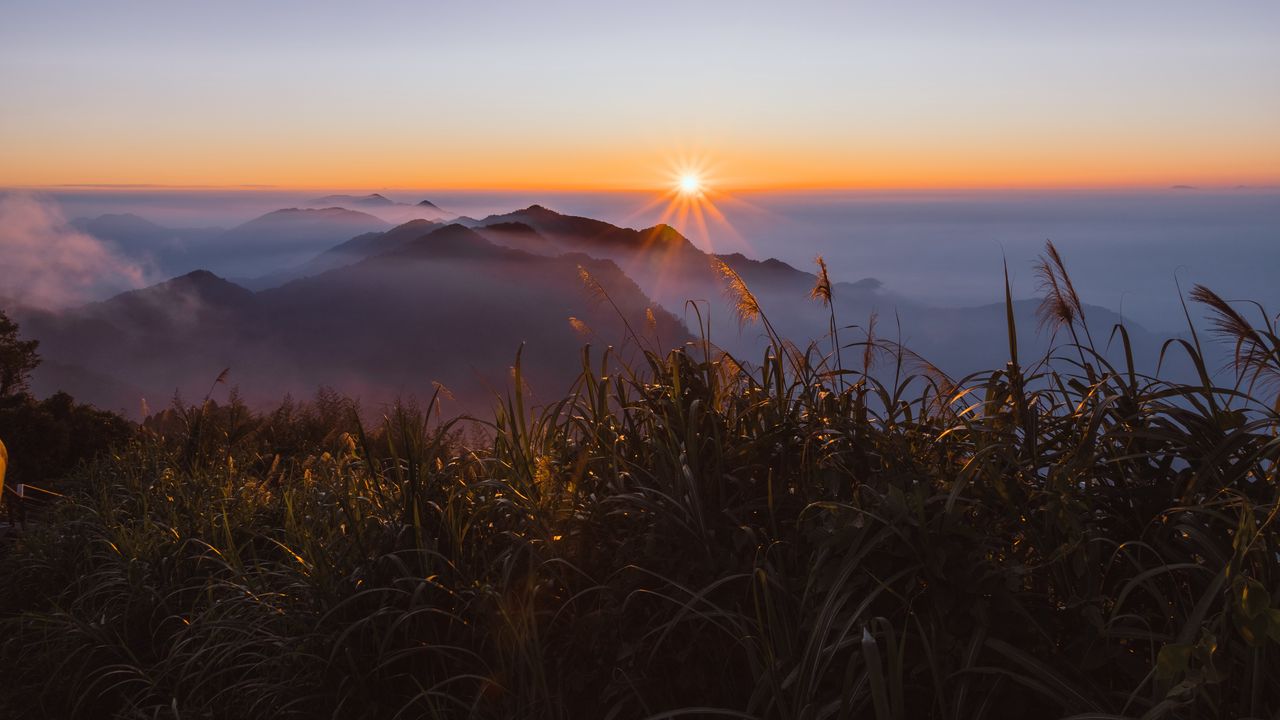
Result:
<svg viewBox="0 0 1280 720"><path fill-rule="evenodd" d="M369 225L380 227L356 232ZM710 255L669 225L621 228L539 205L474 228L422 219L387 228L351 210L280 210L218 241L241 255L310 255L259 292L193 272L70 311L23 309L17 319L41 341L46 360L35 387L84 388L78 396L133 411L137 393L152 405L174 389L204 397L230 368L232 384L259 405L328 386L376 406L401 395L426 397L440 382L458 413L484 410L507 387L521 348L535 397L568 387L584 342L617 346L639 360L640 346L660 352L705 329L714 345L758 363L768 338L762 324L739 322L722 268L801 348L814 342L829 352L833 314L846 368L860 366L873 324L877 341L901 342L952 377L1007 360L1002 304L933 307L874 278L832 278L828 310L810 297L814 274L780 260ZM1037 332L1037 305L1014 304L1024 360L1051 342ZM1107 309L1085 310L1100 342L1120 322ZM1139 368L1153 368L1158 338L1128 328ZM1119 360L1119 343L1100 350ZM897 368L879 363L882 378L892 380ZM902 370L919 368L909 359Z"/></svg>

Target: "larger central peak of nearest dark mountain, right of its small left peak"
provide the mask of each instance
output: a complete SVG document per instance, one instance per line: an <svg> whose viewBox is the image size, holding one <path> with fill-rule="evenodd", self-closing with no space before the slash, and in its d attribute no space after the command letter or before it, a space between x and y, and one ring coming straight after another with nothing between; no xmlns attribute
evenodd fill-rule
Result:
<svg viewBox="0 0 1280 720"><path fill-rule="evenodd" d="M385 397L392 389L422 395L439 380L475 407L506 387L521 343L534 391L544 397L563 391L588 340L570 316L584 322L598 345L622 343L622 320L590 297L580 264L611 287L637 332L645 332L645 310L653 307L664 343L686 340L678 322L654 307L617 265L499 247L457 224L260 297L265 313L282 320L282 342L328 359L303 370L312 384L351 387L378 378Z"/></svg>

